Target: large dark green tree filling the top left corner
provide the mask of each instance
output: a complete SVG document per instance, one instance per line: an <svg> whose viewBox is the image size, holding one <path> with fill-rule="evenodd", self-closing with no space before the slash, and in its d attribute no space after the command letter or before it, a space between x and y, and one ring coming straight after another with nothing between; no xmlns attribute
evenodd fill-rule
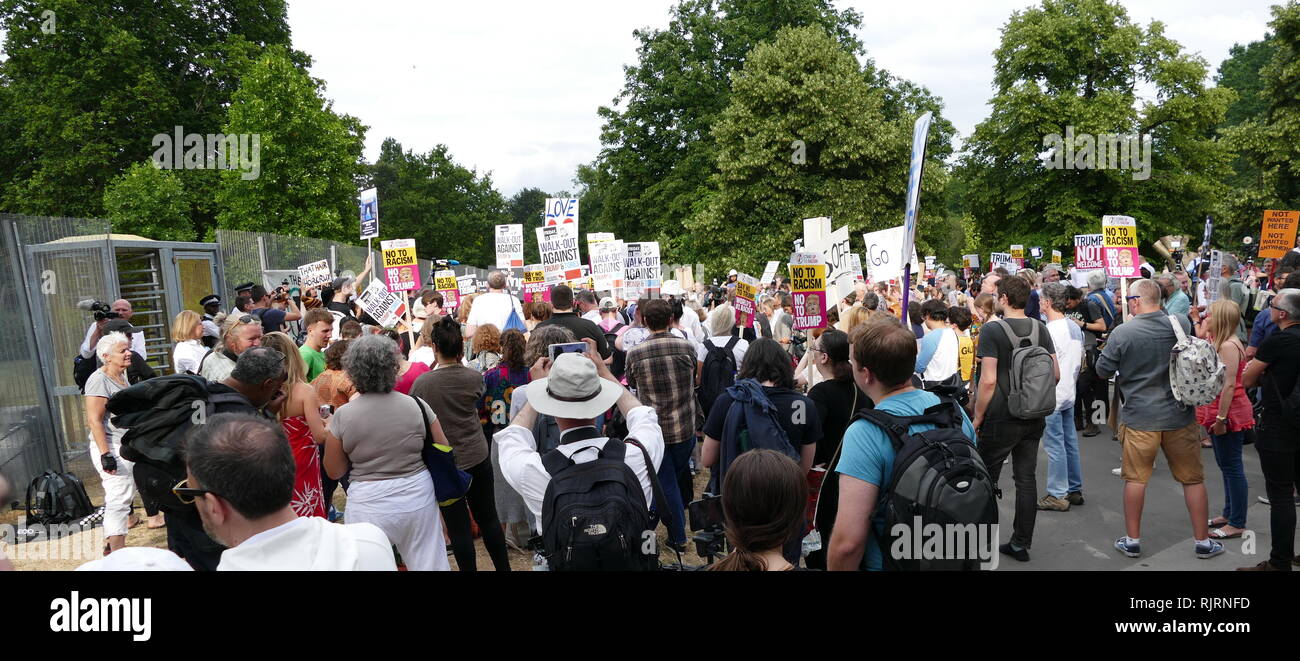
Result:
<svg viewBox="0 0 1300 661"><path fill-rule="evenodd" d="M0 0L0 208L65 216L103 215L155 134L220 131L238 72L290 43L283 0ZM202 233L217 177L179 177Z"/></svg>

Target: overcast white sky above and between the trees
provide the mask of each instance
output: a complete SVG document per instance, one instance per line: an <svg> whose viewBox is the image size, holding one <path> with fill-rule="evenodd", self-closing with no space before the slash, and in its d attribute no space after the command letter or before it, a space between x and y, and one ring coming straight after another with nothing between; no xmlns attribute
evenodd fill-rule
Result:
<svg viewBox="0 0 1300 661"><path fill-rule="evenodd" d="M1123 0L1128 16L1210 62L1264 36L1275 0ZM867 56L944 101L959 138L988 112L993 56L1010 13L1028 0L838 1L863 16ZM291 0L294 46L315 59L338 112L360 117L365 156L393 137L404 148L445 143L490 170L506 195L572 190L576 167L601 148L595 109L636 61L640 27L666 27L671 0Z"/></svg>

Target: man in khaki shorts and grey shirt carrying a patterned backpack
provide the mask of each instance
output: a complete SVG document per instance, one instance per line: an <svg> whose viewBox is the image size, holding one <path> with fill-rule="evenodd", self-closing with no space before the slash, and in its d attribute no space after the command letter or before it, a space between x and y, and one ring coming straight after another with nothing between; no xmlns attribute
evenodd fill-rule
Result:
<svg viewBox="0 0 1300 661"><path fill-rule="evenodd" d="M1178 341L1171 317L1160 306L1161 288L1153 280L1128 286L1128 317L1115 327L1097 358L1097 376L1115 376L1123 397L1119 410L1119 441L1123 444L1124 532L1115 549L1130 558L1141 556L1141 510L1156 453L1165 452L1170 472L1183 485L1183 498L1192 517L1196 557L1213 558L1223 545L1209 536L1209 497L1201 470L1201 440L1196 409L1174 399L1169 386L1169 354ZM1176 317L1192 334L1187 317ZM1117 375L1118 372L1118 375Z"/></svg>

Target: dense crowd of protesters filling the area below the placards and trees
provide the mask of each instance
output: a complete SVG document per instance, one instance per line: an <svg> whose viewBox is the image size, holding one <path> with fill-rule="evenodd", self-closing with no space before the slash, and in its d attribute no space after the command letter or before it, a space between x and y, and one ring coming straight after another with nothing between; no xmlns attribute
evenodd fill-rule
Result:
<svg viewBox="0 0 1300 661"><path fill-rule="evenodd" d="M956 397L961 433L994 484L1010 463L1013 533L1002 554L1028 562L1039 511L1084 505L1079 438L1109 428L1122 448L1119 553L1141 556L1145 487L1160 452L1183 488L1192 552L1223 553L1223 540L1247 530L1243 446L1253 442L1271 552L1245 569L1290 570L1300 252L1268 276L1231 255L1222 264L1218 291L1208 290L1204 268L1195 282L1180 268L1149 265L1148 277L1123 288L1100 271L1063 280L1057 265L945 273L906 295L896 284L858 282L829 306L828 328L807 332L794 328L781 281L759 291L751 327L738 327L734 272L724 286L692 291L666 281L653 298L558 285L549 301L528 302L494 272L485 293L455 307L432 289L415 291L404 332L380 328L358 306L369 263L359 278L304 295L302 308L260 286L240 288L229 314L220 297L204 297L204 315L185 311L172 324L173 371L243 403L186 436L186 479L172 493L192 506L168 511L165 524L177 528L169 548L195 569L448 570L451 556L472 571L478 539L498 571L511 569L510 548L545 569L540 540L556 466L608 453L623 458L679 562L690 541L688 506L708 492L722 494L727 540L714 569L879 570L879 505L896 449L855 414L920 415ZM84 386L86 416L110 554L134 524L140 474L133 478L139 465L122 457L126 429L107 406L152 376L133 373L143 347L130 303L113 306L120 317L92 325L82 346L98 366ZM1183 406L1173 393L1169 357L1182 336L1206 340L1225 366L1212 403ZM554 353L573 344L585 349ZM1022 416L1011 401L1013 357L1031 346L1050 357L1054 406ZM771 411L775 423L738 429L737 411L751 410ZM793 452L762 449L750 429ZM469 478L454 500L436 497L422 458L430 441L450 448ZM1206 485L1202 444L1213 448L1221 491ZM697 481L705 471L707 487ZM823 488L828 476L837 478L832 491ZM1222 504L1216 517L1210 502ZM810 532L819 543L809 544Z"/></svg>

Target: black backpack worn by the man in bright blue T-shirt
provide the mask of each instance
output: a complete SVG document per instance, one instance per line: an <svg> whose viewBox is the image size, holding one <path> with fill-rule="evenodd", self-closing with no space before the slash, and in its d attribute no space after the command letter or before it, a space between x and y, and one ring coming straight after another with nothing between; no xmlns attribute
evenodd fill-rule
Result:
<svg viewBox="0 0 1300 661"><path fill-rule="evenodd" d="M940 398L940 402L922 415L900 416L867 409L858 411L854 419L870 420L889 435L894 448L893 472L888 485L881 489L878 511L884 518L885 535L876 535L880 544L883 566L890 571L936 571L936 570L978 570L980 553L991 549L976 548L976 541L993 539L980 536L980 526L997 524L997 484L988 474L984 461L975 444L962 433L962 412L957 402ZM935 428L911 433L913 424L930 423ZM852 424L852 423L850 423ZM931 523L944 528L940 543L944 558L916 558L920 548L913 546L913 558L894 558L890 546L894 536L890 531L902 524L906 535L914 539L919 531ZM975 526L971 526L975 524ZM963 526L961 548L946 548L949 535L946 526ZM989 528L983 528L989 530ZM992 549L997 553L997 549Z"/></svg>

